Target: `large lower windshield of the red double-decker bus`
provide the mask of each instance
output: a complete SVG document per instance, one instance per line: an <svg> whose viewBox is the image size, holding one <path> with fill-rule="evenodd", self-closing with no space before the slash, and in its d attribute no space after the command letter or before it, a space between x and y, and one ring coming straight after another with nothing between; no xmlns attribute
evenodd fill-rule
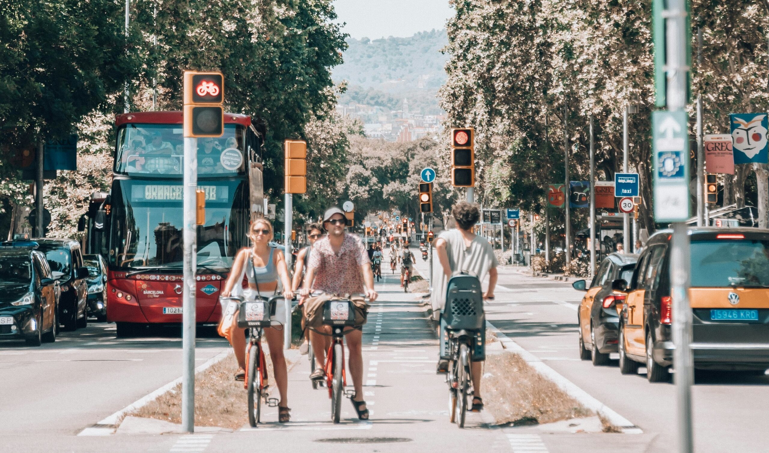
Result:
<svg viewBox="0 0 769 453"><path fill-rule="evenodd" d="M201 182L205 225L198 226L198 265L231 268L248 245L248 182ZM178 182L117 180L112 186L110 268L181 271L182 186Z"/></svg>

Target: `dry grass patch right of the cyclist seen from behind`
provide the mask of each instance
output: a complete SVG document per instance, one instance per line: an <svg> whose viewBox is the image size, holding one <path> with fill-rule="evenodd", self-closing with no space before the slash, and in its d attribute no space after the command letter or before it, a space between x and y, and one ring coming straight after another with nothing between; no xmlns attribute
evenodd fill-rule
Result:
<svg viewBox="0 0 769 453"><path fill-rule="evenodd" d="M487 355L484 403L498 425L531 425L593 413L531 368L520 355Z"/></svg>

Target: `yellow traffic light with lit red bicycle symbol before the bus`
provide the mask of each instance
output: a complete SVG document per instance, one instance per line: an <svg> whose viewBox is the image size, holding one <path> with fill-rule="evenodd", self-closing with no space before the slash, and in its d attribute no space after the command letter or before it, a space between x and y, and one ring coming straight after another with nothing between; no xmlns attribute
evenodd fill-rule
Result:
<svg viewBox="0 0 769 453"><path fill-rule="evenodd" d="M225 133L225 76L185 71L184 136L221 137Z"/></svg>

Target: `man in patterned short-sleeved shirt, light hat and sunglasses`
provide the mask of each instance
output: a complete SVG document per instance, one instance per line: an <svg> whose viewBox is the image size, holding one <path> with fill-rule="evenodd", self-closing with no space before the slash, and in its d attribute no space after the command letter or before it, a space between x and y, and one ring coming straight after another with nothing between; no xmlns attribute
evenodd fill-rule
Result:
<svg viewBox="0 0 769 453"><path fill-rule="evenodd" d="M329 208L323 215L323 228L328 231L328 235L318 239L312 246L308 271L301 289L302 303L309 295L322 293L339 297L365 295L371 301L376 300L374 275L365 245L358 236L345 233L346 223L345 212L340 208ZM363 334L360 330L355 330L348 333L346 338L345 343L350 351L348 366L355 386L352 404L358 412L358 418L368 420L368 409L363 401ZM326 341L323 335L311 331L310 344L315 350L315 360L318 361L317 368L310 378L322 380L325 377L323 368Z"/></svg>

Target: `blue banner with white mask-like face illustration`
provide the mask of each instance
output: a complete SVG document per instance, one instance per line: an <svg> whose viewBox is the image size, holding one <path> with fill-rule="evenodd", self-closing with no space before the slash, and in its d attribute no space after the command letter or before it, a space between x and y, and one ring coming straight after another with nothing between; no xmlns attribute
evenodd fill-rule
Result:
<svg viewBox="0 0 769 453"><path fill-rule="evenodd" d="M767 152L767 115L765 113L732 113L731 137L734 141L734 163L769 162Z"/></svg>

